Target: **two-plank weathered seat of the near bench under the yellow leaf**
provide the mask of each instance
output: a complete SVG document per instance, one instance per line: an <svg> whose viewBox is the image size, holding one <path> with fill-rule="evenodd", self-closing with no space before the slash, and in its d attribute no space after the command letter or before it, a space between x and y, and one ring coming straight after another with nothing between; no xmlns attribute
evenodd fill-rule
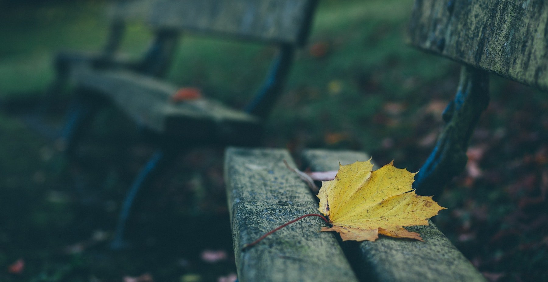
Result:
<svg viewBox="0 0 548 282"><path fill-rule="evenodd" d="M408 227L425 242L381 237L341 247L338 235L318 232L326 226L321 219L307 218L242 251L267 231L300 215L318 213L318 202L283 163L295 167L287 150L229 148L225 157L239 282L486 281L432 222ZM301 161L312 171L331 171L338 169L339 161L368 159L361 152L305 150Z"/></svg>

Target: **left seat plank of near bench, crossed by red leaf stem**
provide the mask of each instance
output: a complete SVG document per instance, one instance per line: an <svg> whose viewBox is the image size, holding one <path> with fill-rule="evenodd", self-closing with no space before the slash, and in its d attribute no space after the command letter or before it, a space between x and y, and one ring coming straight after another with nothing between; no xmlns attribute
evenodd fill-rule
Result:
<svg viewBox="0 0 548 282"><path fill-rule="evenodd" d="M248 281L357 281L325 223L305 218L253 248L244 244L301 215L318 213L315 196L283 164L295 166L286 150L229 148L225 180L238 279Z"/></svg>

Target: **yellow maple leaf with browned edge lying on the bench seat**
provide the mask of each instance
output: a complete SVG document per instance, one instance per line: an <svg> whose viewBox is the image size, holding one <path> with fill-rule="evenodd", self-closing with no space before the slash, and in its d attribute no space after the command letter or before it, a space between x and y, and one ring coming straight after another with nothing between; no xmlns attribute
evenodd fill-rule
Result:
<svg viewBox="0 0 548 282"><path fill-rule="evenodd" d="M416 195L411 187L416 173L396 168L393 161L376 171L369 161L340 166L335 179L322 181L319 208L343 240L369 240L379 234L423 240L403 226L428 225L440 207L432 197Z"/></svg>

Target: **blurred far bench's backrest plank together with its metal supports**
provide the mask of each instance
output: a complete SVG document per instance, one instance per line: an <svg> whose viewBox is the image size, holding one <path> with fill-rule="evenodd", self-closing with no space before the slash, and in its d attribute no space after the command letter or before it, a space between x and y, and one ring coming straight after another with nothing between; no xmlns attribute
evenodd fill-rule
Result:
<svg viewBox="0 0 548 282"><path fill-rule="evenodd" d="M121 42L124 23L144 21L156 32L138 71L163 76L172 61L178 34L208 33L278 46L267 77L246 111L264 119L281 94L294 49L306 42L318 0L121 0L111 15L105 56Z"/></svg>

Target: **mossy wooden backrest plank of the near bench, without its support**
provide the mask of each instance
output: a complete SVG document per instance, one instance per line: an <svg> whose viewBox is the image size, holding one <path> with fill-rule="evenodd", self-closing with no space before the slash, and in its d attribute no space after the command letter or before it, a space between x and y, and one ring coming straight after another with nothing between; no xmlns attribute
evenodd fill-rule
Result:
<svg viewBox="0 0 548 282"><path fill-rule="evenodd" d="M548 1L416 0L410 43L548 90Z"/></svg>

